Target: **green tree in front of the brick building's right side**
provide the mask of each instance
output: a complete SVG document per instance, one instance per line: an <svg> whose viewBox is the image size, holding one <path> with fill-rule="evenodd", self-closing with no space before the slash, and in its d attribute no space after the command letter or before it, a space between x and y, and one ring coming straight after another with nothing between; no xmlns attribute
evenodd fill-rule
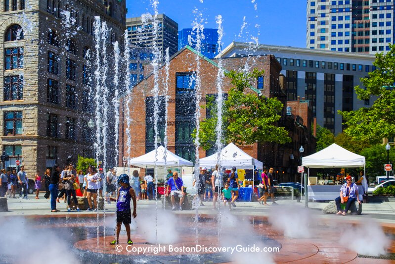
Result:
<svg viewBox="0 0 395 264"><path fill-rule="evenodd" d="M276 142L284 144L290 142L288 131L278 127L276 122L280 119L279 113L283 105L276 98L259 97L256 94L246 93L251 82L256 82L263 71L254 69L253 73L231 71L225 76L231 79L234 85L228 98L223 102L222 135L223 143L253 144L255 142ZM213 100L209 101L210 117L201 122L200 144L204 150L209 150L216 142L217 106ZM193 135L195 136L195 134Z"/></svg>

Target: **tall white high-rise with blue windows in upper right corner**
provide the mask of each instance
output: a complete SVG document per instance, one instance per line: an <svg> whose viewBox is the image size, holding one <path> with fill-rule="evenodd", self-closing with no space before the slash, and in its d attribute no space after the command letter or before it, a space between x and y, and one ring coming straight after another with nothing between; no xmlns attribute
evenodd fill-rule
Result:
<svg viewBox="0 0 395 264"><path fill-rule="evenodd" d="M386 53L394 43L393 0L307 0L306 48Z"/></svg>

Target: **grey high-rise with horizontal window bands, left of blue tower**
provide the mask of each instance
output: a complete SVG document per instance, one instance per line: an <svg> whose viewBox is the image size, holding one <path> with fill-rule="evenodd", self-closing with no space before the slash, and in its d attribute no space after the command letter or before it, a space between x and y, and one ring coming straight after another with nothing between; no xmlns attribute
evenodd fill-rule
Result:
<svg viewBox="0 0 395 264"><path fill-rule="evenodd" d="M169 55L177 52L178 24L165 14L158 14L158 41L157 45L163 53L169 48ZM143 21L141 16L126 19L128 37L132 45L138 47L152 48L153 24Z"/></svg>

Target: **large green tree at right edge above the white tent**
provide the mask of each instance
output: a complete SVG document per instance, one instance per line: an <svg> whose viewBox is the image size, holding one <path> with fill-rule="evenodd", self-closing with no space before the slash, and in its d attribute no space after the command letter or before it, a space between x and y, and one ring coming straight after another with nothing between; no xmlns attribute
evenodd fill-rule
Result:
<svg viewBox="0 0 395 264"><path fill-rule="evenodd" d="M354 111L339 111L347 125L345 133L357 140L379 144L383 138L395 135L395 45L387 54L377 53L376 70L361 78L364 87L356 86L358 99L376 98L371 107Z"/></svg>

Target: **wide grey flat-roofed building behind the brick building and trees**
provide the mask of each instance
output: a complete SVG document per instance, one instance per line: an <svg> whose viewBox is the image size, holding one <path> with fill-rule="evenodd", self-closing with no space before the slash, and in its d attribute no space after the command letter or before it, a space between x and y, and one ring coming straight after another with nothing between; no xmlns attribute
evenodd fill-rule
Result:
<svg viewBox="0 0 395 264"><path fill-rule="evenodd" d="M247 47L248 43L233 42L218 56L244 57ZM298 96L310 100L317 124L334 134L343 131L343 118L338 110L356 110L373 104L374 98L359 100L354 87L362 85L360 78L375 69L374 55L269 45L259 45L248 53L273 54L287 78L287 101L295 101Z"/></svg>

